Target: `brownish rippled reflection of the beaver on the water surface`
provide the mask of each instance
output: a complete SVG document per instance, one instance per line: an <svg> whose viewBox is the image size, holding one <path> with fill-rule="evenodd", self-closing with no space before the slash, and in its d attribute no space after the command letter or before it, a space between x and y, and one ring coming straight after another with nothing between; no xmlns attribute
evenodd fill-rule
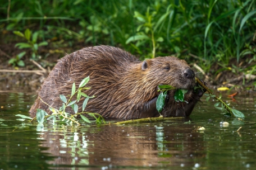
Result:
<svg viewBox="0 0 256 170"><path fill-rule="evenodd" d="M184 126L186 128L184 128ZM41 131L41 147L56 159L49 164L90 166L188 166L204 157L202 134L192 125L161 122L124 126L103 125Z"/></svg>

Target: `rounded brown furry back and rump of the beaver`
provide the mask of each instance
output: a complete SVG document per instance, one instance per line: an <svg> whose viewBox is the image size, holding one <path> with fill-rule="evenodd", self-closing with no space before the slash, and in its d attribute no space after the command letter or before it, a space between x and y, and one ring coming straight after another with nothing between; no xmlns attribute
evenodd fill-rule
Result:
<svg viewBox="0 0 256 170"><path fill-rule="evenodd" d="M94 46L78 50L58 60L38 90L38 97L50 106L59 108L61 106L59 96L62 94L67 97L71 93L74 82L78 86L85 77L90 76L86 87L92 87L92 89L86 92L97 96L98 103L102 103L110 94L108 91L135 63L139 63L135 56L112 46ZM99 99L99 96L103 95L104 98ZM34 115L36 108L49 112L48 106L39 98L29 112Z"/></svg>

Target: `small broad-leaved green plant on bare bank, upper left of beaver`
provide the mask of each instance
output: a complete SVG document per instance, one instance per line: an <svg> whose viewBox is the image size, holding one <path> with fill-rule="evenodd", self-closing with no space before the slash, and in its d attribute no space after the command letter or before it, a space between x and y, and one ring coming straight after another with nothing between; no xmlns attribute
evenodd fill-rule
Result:
<svg viewBox="0 0 256 170"><path fill-rule="evenodd" d="M18 47L19 49L30 48L32 50L31 59L33 60L40 58L38 54L39 46L48 45L47 41L43 41L39 44L36 43L38 39L38 32L34 32L34 34L32 34L32 32L29 29L26 29L24 34L20 31L13 31L13 33L16 34L17 36L24 38L27 41L27 43L17 43L15 44L15 47Z"/></svg>

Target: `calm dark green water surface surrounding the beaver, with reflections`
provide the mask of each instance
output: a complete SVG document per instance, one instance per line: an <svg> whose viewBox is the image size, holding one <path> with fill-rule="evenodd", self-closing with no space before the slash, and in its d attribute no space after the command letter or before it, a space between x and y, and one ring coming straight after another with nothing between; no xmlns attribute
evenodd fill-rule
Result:
<svg viewBox="0 0 256 170"><path fill-rule="evenodd" d="M38 126L29 115L34 93L0 93L0 169L254 169L256 101L226 98L246 118L223 117L213 101L189 119L127 125ZM224 96L224 95L223 95ZM191 121L190 124L184 122ZM223 126L220 122L228 122ZM107 121L108 122L108 121ZM205 130L198 130L200 127ZM236 130L242 127L239 132Z"/></svg>

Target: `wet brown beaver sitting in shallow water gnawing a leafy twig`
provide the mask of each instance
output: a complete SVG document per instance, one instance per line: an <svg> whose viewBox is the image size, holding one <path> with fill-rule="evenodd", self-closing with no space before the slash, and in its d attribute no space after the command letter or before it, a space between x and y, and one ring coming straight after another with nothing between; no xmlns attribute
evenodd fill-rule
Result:
<svg viewBox="0 0 256 170"><path fill-rule="evenodd" d="M51 112L44 102L60 108L60 95L71 94L72 84L76 86L90 77L85 93L90 98L86 112L95 112L106 118L136 119L143 117L189 116L204 91L195 91L195 73L185 60L175 56L164 56L140 62L130 53L112 46L100 45L77 50L58 60L37 92L37 98L30 109L31 116L36 108ZM186 102L176 102L175 89L168 91L166 106L159 114L156 101L159 84L169 84L188 89ZM44 102L42 102L40 99ZM83 100L77 103L81 110ZM74 114L70 108L67 112Z"/></svg>

